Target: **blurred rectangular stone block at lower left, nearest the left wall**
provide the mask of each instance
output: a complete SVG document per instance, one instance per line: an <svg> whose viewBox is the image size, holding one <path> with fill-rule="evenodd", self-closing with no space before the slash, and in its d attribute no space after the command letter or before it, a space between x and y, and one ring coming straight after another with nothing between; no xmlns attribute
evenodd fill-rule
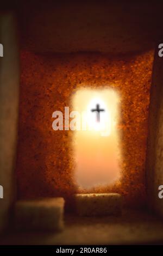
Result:
<svg viewBox="0 0 163 256"><path fill-rule="evenodd" d="M15 205L15 228L18 230L61 230L63 217L63 198L20 200Z"/></svg>

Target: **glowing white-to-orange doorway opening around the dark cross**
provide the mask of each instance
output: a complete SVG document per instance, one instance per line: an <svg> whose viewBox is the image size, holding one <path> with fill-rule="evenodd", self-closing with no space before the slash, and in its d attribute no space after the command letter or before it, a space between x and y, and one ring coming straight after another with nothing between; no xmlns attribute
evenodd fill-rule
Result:
<svg viewBox="0 0 163 256"><path fill-rule="evenodd" d="M117 132L120 97L112 89L80 89L73 98L75 111L85 114L81 129L74 135L76 180L79 187L113 184L120 178L120 146ZM91 109L99 103L100 121ZM83 123L86 123L84 125Z"/></svg>

